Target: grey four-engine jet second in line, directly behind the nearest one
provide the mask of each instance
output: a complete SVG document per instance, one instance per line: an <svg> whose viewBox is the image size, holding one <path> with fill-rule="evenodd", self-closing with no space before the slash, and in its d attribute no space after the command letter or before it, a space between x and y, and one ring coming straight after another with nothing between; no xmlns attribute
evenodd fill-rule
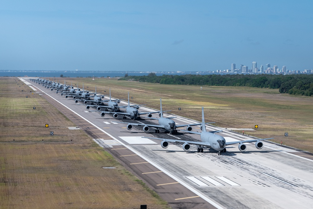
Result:
<svg viewBox="0 0 313 209"><path fill-rule="evenodd" d="M144 124L144 123L126 123L127 124L126 128L128 130L131 130L133 128L133 126L143 126L143 128L142 128L143 131L148 132L149 127L153 127L153 128L156 128L155 133L160 133L160 129L164 129L166 131L169 131L170 134L172 134L172 133L177 133L176 128L187 127L188 131L192 131L192 126L201 125L201 123L176 125L175 121L172 120L172 118L176 118L176 117L170 117L170 118L164 118L163 117L164 111L162 111L162 99L160 99L160 108L161 108L160 113L159 113L160 118L149 117L151 119L158 120L159 125ZM124 122L115 122L115 123L124 123ZM212 123L215 123L215 122L212 122Z"/></svg>

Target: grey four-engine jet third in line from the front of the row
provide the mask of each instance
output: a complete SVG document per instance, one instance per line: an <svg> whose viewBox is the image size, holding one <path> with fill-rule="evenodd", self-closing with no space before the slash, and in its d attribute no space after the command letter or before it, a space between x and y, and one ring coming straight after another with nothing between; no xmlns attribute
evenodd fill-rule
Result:
<svg viewBox="0 0 313 209"><path fill-rule="evenodd" d="M118 108L126 109L126 112L109 112L109 111L95 111L95 112L101 112L101 116L104 117L105 113L113 113L114 118L118 118L119 115L123 115L123 119L131 118L131 119L140 119L140 115L145 115L148 114L148 118L152 117L153 113L158 113L159 111L156 112L138 112L138 109L140 108L141 105L130 105L129 104L129 92L128 92L128 105L127 106L119 106ZM119 122L118 122L119 123Z"/></svg>

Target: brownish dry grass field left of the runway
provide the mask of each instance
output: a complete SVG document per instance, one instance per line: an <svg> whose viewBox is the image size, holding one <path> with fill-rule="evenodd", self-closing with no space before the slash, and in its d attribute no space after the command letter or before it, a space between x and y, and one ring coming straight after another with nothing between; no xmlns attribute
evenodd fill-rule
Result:
<svg viewBox="0 0 313 209"><path fill-rule="evenodd" d="M17 78L0 78L0 208L169 208L30 91ZM58 134L50 136L46 123Z"/></svg>

